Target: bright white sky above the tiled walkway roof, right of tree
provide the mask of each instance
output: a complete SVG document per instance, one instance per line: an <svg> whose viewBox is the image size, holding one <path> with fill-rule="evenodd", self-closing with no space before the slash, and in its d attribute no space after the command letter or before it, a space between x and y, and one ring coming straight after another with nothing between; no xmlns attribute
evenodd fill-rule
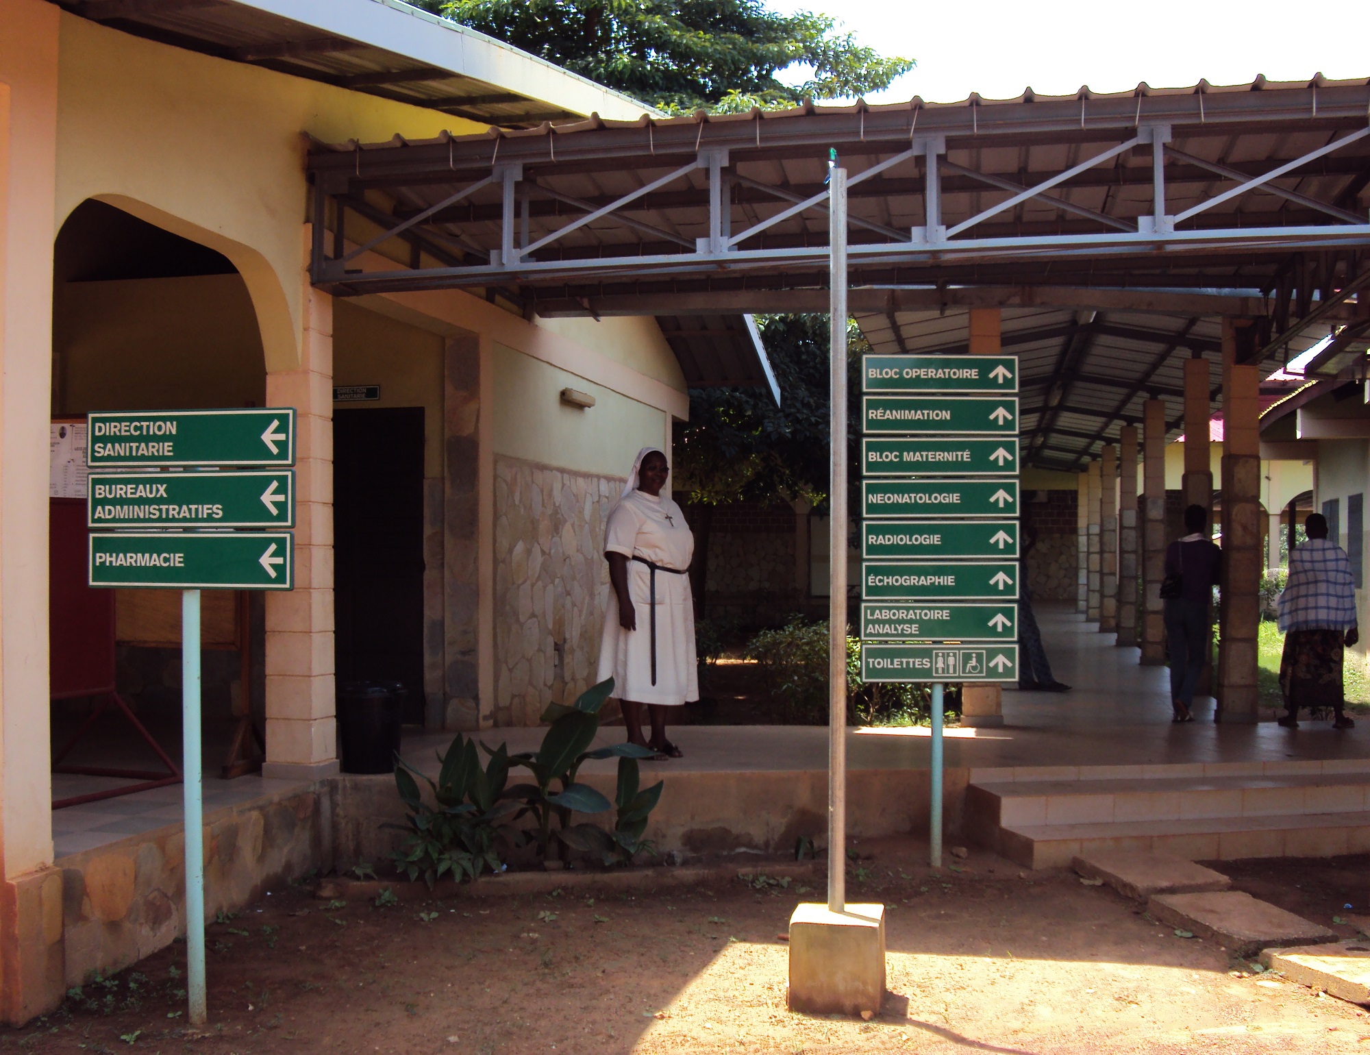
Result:
<svg viewBox="0 0 1370 1055"><path fill-rule="evenodd" d="M1281 0L767 0L834 15L856 38L918 67L867 101L951 103L1038 95L1370 78L1370 3ZM790 79L790 78L785 78ZM803 79L803 78L797 78Z"/></svg>

